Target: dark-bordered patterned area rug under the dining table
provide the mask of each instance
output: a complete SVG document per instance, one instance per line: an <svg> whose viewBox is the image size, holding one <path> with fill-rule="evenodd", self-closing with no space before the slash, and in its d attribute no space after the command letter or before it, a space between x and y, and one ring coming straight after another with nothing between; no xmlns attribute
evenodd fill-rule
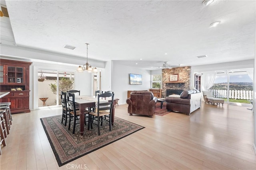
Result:
<svg viewBox="0 0 256 170"><path fill-rule="evenodd" d="M44 117L40 120L59 166L144 128L115 117L112 131L109 131L109 125L105 121L105 125L103 123L100 129L100 136L98 136L97 125L93 125L93 129L90 129L90 131L87 130L86 125L84 136L81 136L80 124L76 125L75 134L72 134L73 126L71 125L70 130L68 130L68 123L66 127L61 123L61 115Z"/></svg>

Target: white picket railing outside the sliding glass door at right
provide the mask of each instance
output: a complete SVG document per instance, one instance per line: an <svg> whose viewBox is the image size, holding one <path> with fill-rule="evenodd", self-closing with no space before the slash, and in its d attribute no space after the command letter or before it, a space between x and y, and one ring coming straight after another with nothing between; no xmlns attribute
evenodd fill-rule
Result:
<svg viewBox="0 0 256 170"><path fill-rule="evenodd" d="M217 98L227 98L228 90L210 89L210 91L212 92L212 95L216 95ZM229 98L252 100L253 90L229 90Z"/></svg>

